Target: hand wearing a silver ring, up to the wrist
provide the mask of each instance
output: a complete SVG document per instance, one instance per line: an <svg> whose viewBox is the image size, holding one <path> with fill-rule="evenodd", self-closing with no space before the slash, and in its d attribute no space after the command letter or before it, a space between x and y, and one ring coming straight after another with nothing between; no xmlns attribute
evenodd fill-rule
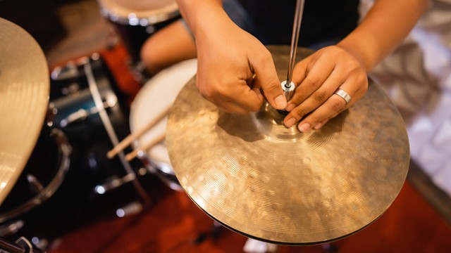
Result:
<svg viewBox="0 0 451 253"><path fill-rule="evenodd" d="M368 76L364 62L345 46L321 48L297 63L292 82L295 94L288 101L285 126L302 119L297 128L301 132L319 129L329 119L350 108L368 89ZM350 94L350 103L334 92L342 89Z"/></svg>

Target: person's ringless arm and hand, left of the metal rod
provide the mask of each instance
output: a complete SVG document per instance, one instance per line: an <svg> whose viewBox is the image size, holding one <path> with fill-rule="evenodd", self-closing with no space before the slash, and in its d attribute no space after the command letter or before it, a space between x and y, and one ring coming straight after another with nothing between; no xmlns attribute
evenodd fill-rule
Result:
<svg viewBox="0 0 451 253"><path fill-rule="evenodd" d="M204 98L226 112L257 111L264 102L284 109L271 53L255 37L237 27L220 0L177 0L197 46L196 84Z"/></svg>

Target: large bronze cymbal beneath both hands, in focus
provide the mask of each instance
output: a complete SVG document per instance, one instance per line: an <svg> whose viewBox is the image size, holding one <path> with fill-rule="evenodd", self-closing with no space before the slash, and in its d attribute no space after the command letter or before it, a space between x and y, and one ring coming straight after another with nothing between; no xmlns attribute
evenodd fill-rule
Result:
<svg viewBox="0 0 451 253"><path fill-rule="evenodd" d="M280 79L288 46L271 46ZM299 48L298 59L312 51ZM249 238L312 245L369 226L407 176L402 117L378 84L321 129L283 126L270 105L234 115L202 98L191 79L175 99L168 155L187 195L214 220Z"/></svg>

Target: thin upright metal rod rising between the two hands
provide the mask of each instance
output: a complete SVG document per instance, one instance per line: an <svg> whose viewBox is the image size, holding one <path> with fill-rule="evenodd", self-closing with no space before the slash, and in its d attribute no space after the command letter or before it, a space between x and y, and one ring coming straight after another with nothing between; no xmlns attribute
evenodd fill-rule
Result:
<svg viewBox="0 0 451 253"><path fill-rule="evenodd" d="M280 85L283 89L283 94L287 100L290 100L292 95L295 93L295 84L292 82L293 69L295 67L296 49L297 41L299 41L299 30L301 28L302 13L304 11L304 1L296 1L295 10L295 20L293 22L293 32L291 37L291 48L290 48L290 62L288 65L287 80L282 82Z"/></svg>

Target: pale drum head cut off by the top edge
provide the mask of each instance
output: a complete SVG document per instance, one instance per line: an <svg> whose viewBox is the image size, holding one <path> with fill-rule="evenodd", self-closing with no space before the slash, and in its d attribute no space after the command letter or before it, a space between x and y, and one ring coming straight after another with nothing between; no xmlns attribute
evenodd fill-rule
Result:
<svg viewBox="0 0 451 253"><path fill-rule="evenodd" d="M119 19L148 19L156 23L173 18L178 15L178 6L175 0L97 0L102 13L111 20ZM132 15L133 17L131 17Z"/></svg>

